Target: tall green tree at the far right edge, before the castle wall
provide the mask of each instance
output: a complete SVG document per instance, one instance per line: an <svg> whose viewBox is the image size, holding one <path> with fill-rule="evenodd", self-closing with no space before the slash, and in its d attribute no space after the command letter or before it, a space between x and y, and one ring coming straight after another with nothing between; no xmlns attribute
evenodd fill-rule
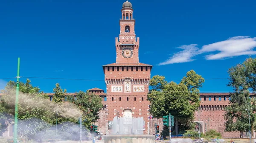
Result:
<svg viewBox="0 0 256 143"><path fill-rule="evenodd" d="M227 85L233 87L233 93L230 93L230 106L225 108L225 131L239 131L240 138L243 137L244 131L249 131L248 109L251 113L256 111L256 101L249 95L250 90L255 91L255 69L255 59L249 58L228 70L230 81ZM255 119L255 114L250 114L252 125Z"/></svg>

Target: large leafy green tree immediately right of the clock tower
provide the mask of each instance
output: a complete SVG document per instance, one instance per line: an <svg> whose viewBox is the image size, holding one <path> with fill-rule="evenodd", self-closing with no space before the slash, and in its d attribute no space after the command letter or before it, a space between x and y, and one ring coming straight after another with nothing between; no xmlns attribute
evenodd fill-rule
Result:
<svg viewBox="0 0 256 143"><path fill-rule="evenodd" d="M204 78L191 70L187 72L179 84L171 81L167 83L164 76L153 76L148 93L150 112L154 117L171 115L175 118L175 131L178 134L178 124L188 124L194 119L194 112L198 109L199 87L202 87ZM159 83L157 83L159 82Z"/></svg>

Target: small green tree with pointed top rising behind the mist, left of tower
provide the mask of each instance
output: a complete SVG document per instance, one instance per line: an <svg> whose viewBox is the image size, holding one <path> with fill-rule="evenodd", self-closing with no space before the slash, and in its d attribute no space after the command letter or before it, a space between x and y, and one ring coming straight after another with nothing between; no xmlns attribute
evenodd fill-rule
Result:
<svg viewBox="0 0 256 143"><path fill-rule="evenodd" d="M64 89L64 92L63 92L63 90L61 89L60 84L56 83L55 88L53 88L53 92L54 92L54 95L53 95L52 101L55 102L55 103L61 103L63 101L63 98L65 97L65 95L67 93L67 90Z"/></svg>

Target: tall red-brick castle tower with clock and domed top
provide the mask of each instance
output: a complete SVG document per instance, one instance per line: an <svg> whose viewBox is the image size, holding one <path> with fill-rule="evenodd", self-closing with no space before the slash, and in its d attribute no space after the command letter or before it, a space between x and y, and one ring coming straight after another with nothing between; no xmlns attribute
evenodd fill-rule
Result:
<svg viewBox="0 0 256 143"><path fill-rule="evenodd" d="M120 34L116 37L116 62L103 66L107 87L107 134L116 134L112 126L116 117L143 117L141 130L143 134L149 134L147 94L152 66L139 62L140 38L135 35L132 4L128 1L123 3L121 12Z"/></svg>

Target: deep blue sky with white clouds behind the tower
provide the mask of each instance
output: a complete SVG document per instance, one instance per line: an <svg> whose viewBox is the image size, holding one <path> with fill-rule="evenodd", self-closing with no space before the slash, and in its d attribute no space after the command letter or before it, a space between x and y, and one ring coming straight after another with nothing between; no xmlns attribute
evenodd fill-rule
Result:
<svg viewBox="0 0 256 143"><path fill-rule="evenodd" d="M52 92L105 90L102 65L115 62L115 37L125 0L6 0L0 2L0 79L32 79ZM195 70L201 92L228 92L229 67L256 54L255 0L130 0L140 37L140 62L151 76L179 82ZM253 51L254 50L254 51ZM212 79L213 78L213 79ZM13 79L16 80L16 79ZM25 81L26 79L21 79ZM8 80L0 80L0 88Z"/></svg>

